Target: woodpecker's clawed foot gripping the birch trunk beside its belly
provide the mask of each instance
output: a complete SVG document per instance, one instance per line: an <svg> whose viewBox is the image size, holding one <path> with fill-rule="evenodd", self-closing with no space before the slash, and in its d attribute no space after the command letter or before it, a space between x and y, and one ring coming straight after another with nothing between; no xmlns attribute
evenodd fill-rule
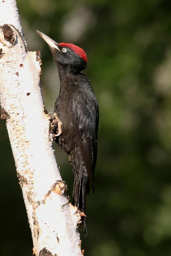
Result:
<svg viewBox="0 0 171 256"><path fill-rule="evenodd" d="M56 113L48 113L48 119L50 121L50 140L53 142L56 137L62 134L62 122Z"/></svg>

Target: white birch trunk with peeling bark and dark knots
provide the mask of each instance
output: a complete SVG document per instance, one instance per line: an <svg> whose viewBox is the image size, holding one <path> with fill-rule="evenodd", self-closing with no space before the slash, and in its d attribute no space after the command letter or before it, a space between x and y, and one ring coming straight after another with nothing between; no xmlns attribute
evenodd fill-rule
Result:
<svg viewBox="0 0 171 256"><path fill-rule="evenodd" d="M6 119L34 253L81 256L80 216L58 182L62 178L50 145L40 76L39 52L26 49L16 1L0 0L1 118Z"/></svg>

